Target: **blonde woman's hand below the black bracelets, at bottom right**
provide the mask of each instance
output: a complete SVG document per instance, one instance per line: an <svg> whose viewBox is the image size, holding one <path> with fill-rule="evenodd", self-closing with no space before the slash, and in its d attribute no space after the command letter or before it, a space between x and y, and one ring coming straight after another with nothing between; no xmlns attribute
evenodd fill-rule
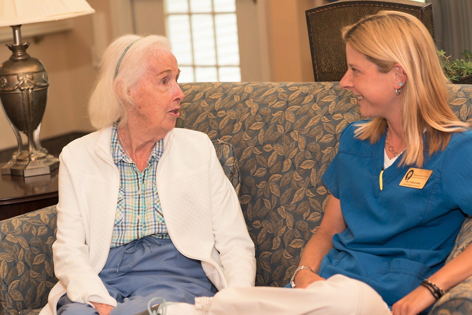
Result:
<svg viewBox="0 0 472 315"><path fill-rule="evenodd" d="M425 287L419 286L392 306L392 314L417 315L433 305L434 302L436 299L431 292Z"/></svg>

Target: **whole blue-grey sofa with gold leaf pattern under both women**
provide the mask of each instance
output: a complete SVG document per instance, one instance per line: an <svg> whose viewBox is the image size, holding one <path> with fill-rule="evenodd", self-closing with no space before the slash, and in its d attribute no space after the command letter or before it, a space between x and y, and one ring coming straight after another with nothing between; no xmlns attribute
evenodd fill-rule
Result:
<svg viewBox="0 0 472 315"><path fill-rule="evenodd" d="M178 127L200 130L228 148L227 175L237 187L256 244L258 286L284 286L303 245L318 229L328 191L320 177L337 152L341 130L361 119L356 100L337 83L182 84ZM450 104L472 122L472 85L450 85ZM218 146L217 146L218 149ZM451 256L472 239L464 222ZM55 207L0 221L0 315L37 314L56 282L51 244ZM430 314L472 314L472 277L451 289Z"/></svg>

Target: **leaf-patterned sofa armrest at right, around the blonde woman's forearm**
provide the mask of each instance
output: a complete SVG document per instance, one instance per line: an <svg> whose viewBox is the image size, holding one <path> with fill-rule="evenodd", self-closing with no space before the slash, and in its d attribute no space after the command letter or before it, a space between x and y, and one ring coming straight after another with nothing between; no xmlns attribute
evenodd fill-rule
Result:
<svg viewBox="0 0 472 315"><path fill-rule="evenodd" d="M459 255L472 241L472 218L468 217L455 240L455 246L447 257L451 259ZM472 314L472 276L462 281L436 302L429 315Z"/></svg>

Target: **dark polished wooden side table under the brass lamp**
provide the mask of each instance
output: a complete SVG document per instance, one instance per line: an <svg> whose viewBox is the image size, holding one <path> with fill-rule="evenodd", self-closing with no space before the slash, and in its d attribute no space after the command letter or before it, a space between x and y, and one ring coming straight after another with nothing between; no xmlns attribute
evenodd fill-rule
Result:
<svg viewBox="0 0 472 315"><path fill-rule="evenodd" d="M58 172L32 177L1 175L0 221L57 204Z"/></svg>

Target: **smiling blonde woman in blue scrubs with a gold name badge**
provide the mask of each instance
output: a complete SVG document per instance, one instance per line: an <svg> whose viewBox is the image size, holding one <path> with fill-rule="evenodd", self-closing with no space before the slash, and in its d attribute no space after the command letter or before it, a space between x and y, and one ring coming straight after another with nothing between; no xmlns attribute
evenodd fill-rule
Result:
<svg viewBox="0 0 472 315"><path fill-rule="evenodd" d="M426 314L472 275L471 247L445 265L472 214L472 131L448 107L430 34L412 15L381 11L342 36L340 85L371 119L346 127L322 177L331 196L296 289L225 289L209 314Z"/></svg>

